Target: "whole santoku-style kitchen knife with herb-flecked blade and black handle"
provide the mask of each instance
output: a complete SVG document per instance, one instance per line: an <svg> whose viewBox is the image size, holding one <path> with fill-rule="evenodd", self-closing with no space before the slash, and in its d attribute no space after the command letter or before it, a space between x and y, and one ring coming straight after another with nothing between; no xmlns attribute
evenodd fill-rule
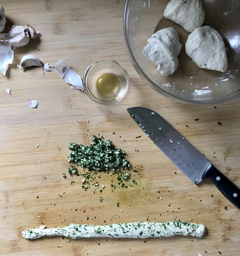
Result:
<svg viewBox="0 0 240 256"><path fill-rule="evenodd" d="M162 116L145 107L127 109L142 131L196 185L210 178L217 188L238 208L240 189L214 167L196 148Z"/></svg>

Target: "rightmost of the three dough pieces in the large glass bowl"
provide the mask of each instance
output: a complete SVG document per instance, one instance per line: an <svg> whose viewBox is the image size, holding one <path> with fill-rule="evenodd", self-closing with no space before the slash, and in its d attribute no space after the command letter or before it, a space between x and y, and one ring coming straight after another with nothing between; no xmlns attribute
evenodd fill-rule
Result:
<svg viewBox="0 0 240 256"><path fill-rule="evenodd" d="M199 68L225 72L227 55L222 36L210 26L197 27L188 36L186 54Z"/></svg>

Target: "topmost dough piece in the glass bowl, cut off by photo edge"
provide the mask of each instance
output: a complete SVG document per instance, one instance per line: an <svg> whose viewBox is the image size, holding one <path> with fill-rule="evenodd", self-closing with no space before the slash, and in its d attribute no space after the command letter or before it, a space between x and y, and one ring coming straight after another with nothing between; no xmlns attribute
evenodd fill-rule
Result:
<svg viewBox="0 0 240 256"><path fill-rule="evenodd" d="M171 0L163 15L191 33L203 24L205 11L201 0Z"/></svg>

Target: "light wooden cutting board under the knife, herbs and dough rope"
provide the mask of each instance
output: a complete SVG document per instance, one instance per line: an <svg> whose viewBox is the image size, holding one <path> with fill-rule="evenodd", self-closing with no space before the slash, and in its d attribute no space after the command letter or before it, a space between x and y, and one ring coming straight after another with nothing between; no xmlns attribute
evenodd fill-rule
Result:
<svg viewBox="0 0 240 256"><path fill-rule="evenodd" d="M128 107L144 106L158 112L240 187L239 100L216 108L187 105L147 86L125 49L123 0L2 1L2 5L8 25L27 22L40 35L14 51L13 64L6 76L0 76L1 255L239 255L240 210L210 181L192 184L126 111ZM71 90L55 70L44 74L41 68L22 72L16 64L26 54L49 64L65 59L80 75L97 59L116 59L129 72L129 91L115 105L99 105L84 92ZM11 88L10 96L4 88ZM36 109L28 107L29 99L38 100ZM101 173L96 181L105 188L94 193L93 187L82 190L81 176L62 177L69 166L70 142L89 145L93 134L104 135L126 151L126 158L138 170L133 173L136 186L113 190L113 177ZM135 139L138 136L142 137ZM71 181L75 183L71 185ZM203 239L179 236L145 241L62 237L28 241L21 236L21 231L41 224L60 227L70 223L169 220L204 224L208 235Z"/></svg>

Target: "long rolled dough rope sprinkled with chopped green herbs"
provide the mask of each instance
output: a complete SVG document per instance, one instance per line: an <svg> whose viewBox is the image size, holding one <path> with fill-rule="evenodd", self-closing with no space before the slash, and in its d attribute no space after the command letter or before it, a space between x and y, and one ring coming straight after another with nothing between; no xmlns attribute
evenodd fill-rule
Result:
<svg viewBox="0 0 240 256"><path fill-rule="evenodd" d="M25 239L36 239L48 236L65 236L72 239L91 237L110 238L150 238L150 237L171 237L176 235L203 237L206 232L204 225L182 222L132 222L112 225L84 225L70 224L63 228L45 229L40 226L38 229L30 229L22 232Z"/></svg>

